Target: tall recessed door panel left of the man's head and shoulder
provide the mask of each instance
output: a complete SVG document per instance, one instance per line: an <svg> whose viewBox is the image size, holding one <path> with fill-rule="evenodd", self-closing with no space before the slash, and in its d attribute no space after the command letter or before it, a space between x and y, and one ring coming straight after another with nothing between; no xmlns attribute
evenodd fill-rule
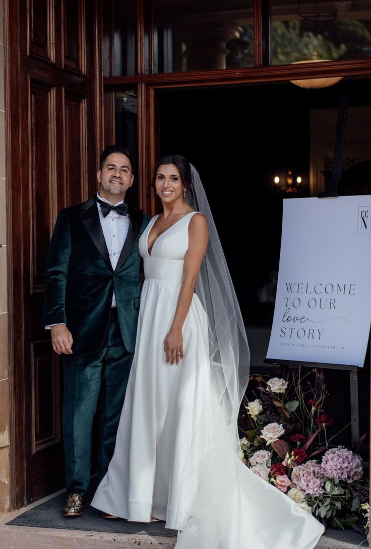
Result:
<svg viewBox="0 0 371 549"><path fill-rule="evenodd" d="M30 160L31 160L31 293L43 290L53 202L55 169L55 88L32 82L30 85Z"/></svg>

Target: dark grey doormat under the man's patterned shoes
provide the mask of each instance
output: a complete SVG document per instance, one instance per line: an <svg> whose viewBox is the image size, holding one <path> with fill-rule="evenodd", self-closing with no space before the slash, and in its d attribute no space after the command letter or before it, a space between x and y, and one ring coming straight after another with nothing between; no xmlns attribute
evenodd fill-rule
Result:
<svg viewBox="0 0 371 549"><path fill-rule="evenodd" d="M97 479L91 480L86 494L87 505L82 517L62 517L60 510L66 494L60 494L51 500L29 509L7 522L12 526L32 526L33 528L59 528L62 530L85 530L108 532L112 534L137 534L148 536L176 537L176 530L165 528L165 522L128 522L125 519L104 519L102 513L91 507L90 502L97 488Z"/></svg>

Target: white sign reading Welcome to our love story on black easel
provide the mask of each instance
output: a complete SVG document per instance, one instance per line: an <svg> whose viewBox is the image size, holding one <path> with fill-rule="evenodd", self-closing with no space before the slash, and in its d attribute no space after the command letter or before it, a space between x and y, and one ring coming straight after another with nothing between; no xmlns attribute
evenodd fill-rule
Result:
<svg viewBox="0 0 371 549"><path fill-rule="evenodd" d="M284 200L267 358L362 367L371 320L371 196Z"/></svg>

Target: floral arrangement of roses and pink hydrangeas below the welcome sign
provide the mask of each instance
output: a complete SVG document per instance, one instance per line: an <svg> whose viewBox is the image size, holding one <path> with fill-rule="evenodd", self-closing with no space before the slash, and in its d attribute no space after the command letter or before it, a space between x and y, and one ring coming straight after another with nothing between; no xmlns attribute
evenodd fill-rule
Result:
<svg viewBox="0 0 371 549"><path fill-rule="evenodd" d="M323 373L298 368L287 379L250 380L256 398L243 401L243 462L322 522L334 528L364 524L368 483L357 453L364 436L354 451L331 444L339 433L331 435L334 419L324 411Z"/></svg>

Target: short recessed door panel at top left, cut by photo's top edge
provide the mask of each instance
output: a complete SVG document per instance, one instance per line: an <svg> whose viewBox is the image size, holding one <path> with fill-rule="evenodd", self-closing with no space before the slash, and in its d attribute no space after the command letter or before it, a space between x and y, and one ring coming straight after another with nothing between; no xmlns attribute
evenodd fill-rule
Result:
<svg viewBox="0 0 371 549"><path fill-rule="evenodd" d="M54 61L54 5L48 0L29 0L29 51Z"/></svg>

